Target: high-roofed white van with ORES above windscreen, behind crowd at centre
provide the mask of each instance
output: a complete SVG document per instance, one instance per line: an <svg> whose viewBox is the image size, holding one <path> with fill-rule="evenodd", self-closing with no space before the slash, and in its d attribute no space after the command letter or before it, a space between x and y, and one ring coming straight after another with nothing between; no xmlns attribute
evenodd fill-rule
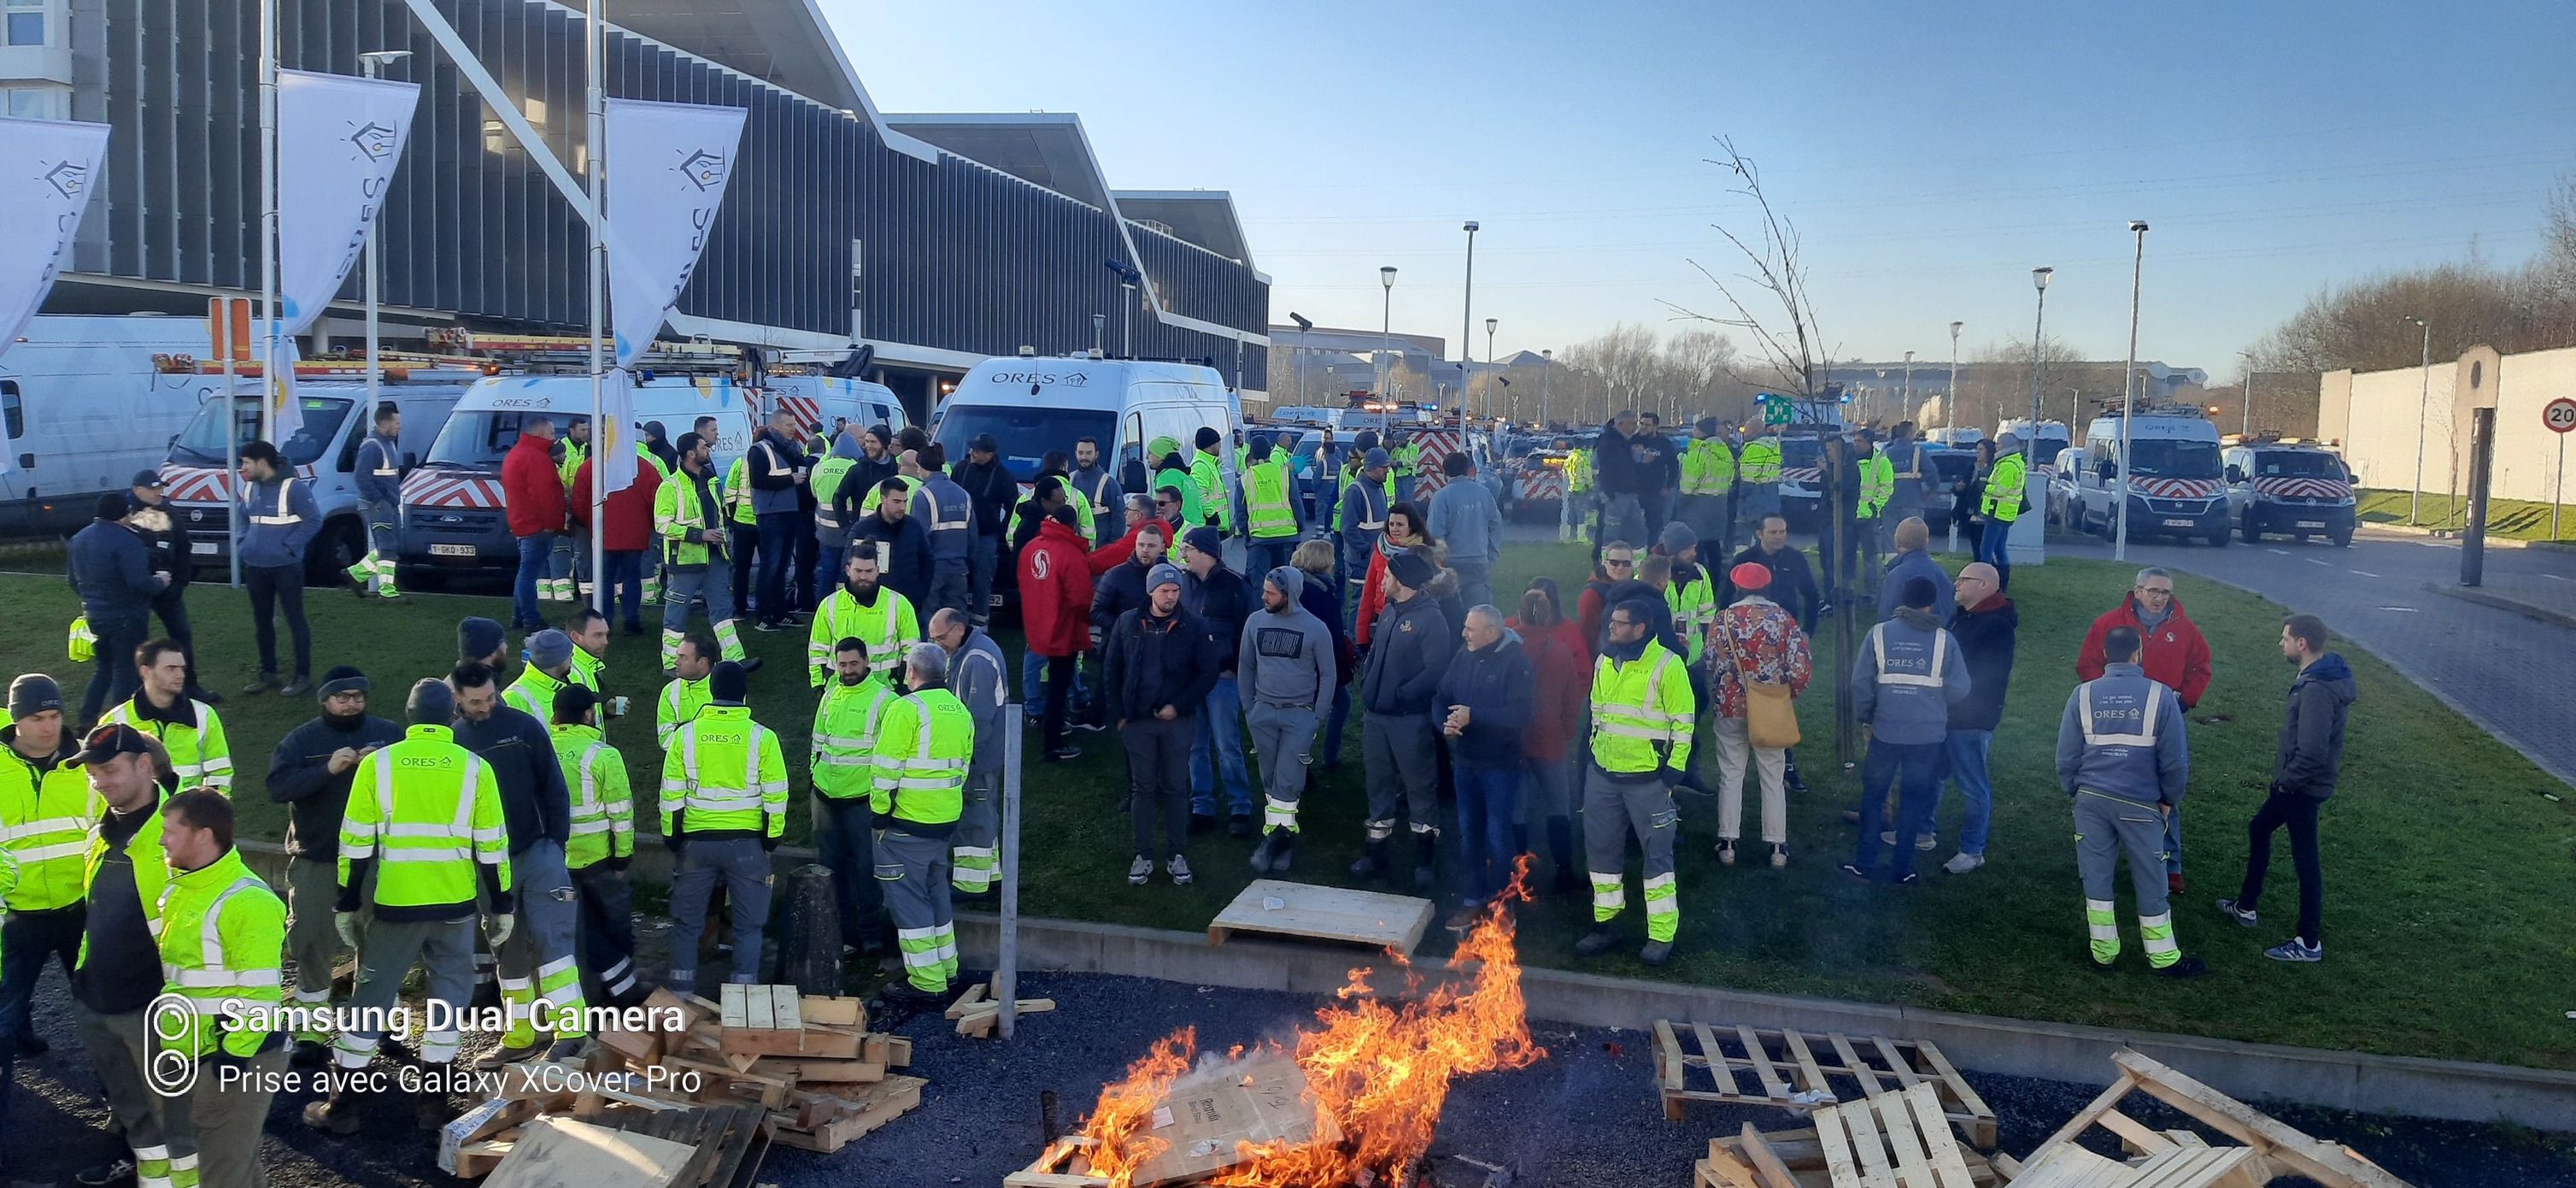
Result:
<svg viewBox="0 0 2576 1188"><path fill-rule="evenodd" d="M1100 451L1118 459L1118 484L1141 492L1149 441L1180 441L1188 459L1198 430L1213 428L1224 441L1216 466L1226 490L1234 490L1231 443L1242 423L1242 397L1208 366L1082 356L987 358L958 379L933 417L930 438L951 461L963 461L966 443L992 433L1002 446L1002 464L1020 482L1038 474L1046 451L1072 454L1074 441L1097 438Z"/></svg>

